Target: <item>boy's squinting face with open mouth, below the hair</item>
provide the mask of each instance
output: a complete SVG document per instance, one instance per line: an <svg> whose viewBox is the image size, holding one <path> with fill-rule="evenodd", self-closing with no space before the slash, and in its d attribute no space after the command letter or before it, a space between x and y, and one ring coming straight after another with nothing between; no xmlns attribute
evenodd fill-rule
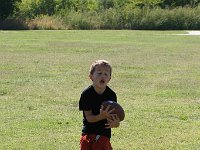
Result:
<svg viewBox="0 0 200 150"><path fill-rule="evenodd" d="M104 90L111 79L110 68L106 66L96 66L93 74L90 75L95 89Z"/></svg>

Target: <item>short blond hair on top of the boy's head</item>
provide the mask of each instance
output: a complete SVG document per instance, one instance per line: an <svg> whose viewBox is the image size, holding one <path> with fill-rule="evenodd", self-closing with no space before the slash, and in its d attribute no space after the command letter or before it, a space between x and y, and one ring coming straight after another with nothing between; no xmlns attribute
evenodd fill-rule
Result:
<svg viewBox="0 0 200 150"><path fill-rule="evenodd" d="M105 66L108 67L110 69L110 75L112 73L112 66L111 64L106 61L106 60L96 60L95 62L92 63L92 65L90 66L90 74L92 75L95 71L95 68L97 66Z"/></svg>

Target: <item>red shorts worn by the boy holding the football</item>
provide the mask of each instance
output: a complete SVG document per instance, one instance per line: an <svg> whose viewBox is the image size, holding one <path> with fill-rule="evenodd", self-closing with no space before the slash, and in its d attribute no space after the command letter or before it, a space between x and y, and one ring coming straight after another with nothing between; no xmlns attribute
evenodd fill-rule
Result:
<svg viewBox="0 0 200 150"><path fill-rule="evenodd" d="M81 136L80 150L112 150L112 147L108 137L89 134Z"/></svg>

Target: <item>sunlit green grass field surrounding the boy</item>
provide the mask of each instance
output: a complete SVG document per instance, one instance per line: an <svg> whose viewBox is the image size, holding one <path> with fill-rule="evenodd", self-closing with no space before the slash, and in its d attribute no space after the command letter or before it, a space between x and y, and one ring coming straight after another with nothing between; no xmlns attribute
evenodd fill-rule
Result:
<svg viewBox="0 0 200 150"><path fill-rule="evenodd" d="M184 31L0 31L0 149L78 150L96 59L126 118L114 150L200 149L200 36Z"/></svg>

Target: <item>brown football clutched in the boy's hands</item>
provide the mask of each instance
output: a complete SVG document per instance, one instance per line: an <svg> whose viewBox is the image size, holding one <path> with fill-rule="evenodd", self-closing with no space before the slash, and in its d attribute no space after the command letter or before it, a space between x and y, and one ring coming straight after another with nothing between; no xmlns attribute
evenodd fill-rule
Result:
<svg viewBox="0 0 200 150"><path fill-rule="evenodd" d="M124 118L125 118L124 109L122 108L122 106L119 103L114 102L114 101L104 101L102 103L102 105L104 106L104 108L106 108L108 105L110 105L109 110L115 108L115 110L112 112L112 114L117 114L120 121L124 120Z"/></svg>

